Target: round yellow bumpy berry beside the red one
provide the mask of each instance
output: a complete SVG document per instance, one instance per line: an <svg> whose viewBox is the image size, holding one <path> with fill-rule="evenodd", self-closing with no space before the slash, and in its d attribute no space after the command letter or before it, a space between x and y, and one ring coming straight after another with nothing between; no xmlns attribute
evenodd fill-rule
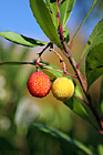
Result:
<svg viewBox="0 0 103 155"><path fill-rule="evenodd" d="M60 101L69 100L74 93L74 84L68 78L58 78L53 82L52 93Z"/></svg>

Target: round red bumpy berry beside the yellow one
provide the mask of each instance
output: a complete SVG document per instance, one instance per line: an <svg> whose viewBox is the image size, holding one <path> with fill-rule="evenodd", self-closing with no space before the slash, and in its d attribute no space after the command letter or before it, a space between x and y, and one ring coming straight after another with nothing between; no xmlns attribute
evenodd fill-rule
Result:
<svg viewBox="0 0 103 155"><path fill-rule="evenodd" d="M32 96L44 97L50 92L51 81L43 72L34 72L30 75L27 86Z"/></svg>

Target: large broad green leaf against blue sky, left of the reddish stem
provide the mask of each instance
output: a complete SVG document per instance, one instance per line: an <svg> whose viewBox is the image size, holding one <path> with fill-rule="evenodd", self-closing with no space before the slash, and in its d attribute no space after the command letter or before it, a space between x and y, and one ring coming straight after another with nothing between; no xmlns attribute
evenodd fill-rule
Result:
<svg viewBox="0 0 103 155"><path fill-rule="evenodd" d="M54 25L52 16L44 0L30 0L30 7L45 35L58 46L61 46L58 29Z"/></svg>

